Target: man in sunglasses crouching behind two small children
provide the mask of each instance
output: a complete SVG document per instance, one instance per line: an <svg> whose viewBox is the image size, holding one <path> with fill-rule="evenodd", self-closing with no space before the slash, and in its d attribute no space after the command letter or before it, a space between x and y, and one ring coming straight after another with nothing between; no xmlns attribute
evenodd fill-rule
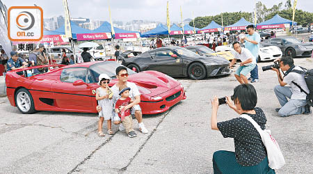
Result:
<svg viewBox="0 0 313 174"><path fill-rule="evenodd" d="M127 81L128 73L127 73L127 68L125 66L119 66L118 68L116 68L115 72L116 72L116 78L118 79L118 83L111 87L111 90L113 92L114 105L115 105L115 102L118 101L120 97L120 95L118 95L120 93L120 89L119 89L120 86L125 85L131 88L131 90L129 90L129 97L131 97L131 99L134 100L134 102L131 102L124 108L121 108L121 110L126 111L127 109L131 109L131 115L135 115L138 121L139 130L143 134L147 134L148 131L145 128L145 125L143 124L143 113L141 111L141 106L139 106L139 103L141 102L141 93L139 93L138 87L136 86L136 84ZM101 109L97 107L97 111L101 111ZM120 131L122 131L125 128L123 127L122 124L120 124L119 129Z"/></svg>

